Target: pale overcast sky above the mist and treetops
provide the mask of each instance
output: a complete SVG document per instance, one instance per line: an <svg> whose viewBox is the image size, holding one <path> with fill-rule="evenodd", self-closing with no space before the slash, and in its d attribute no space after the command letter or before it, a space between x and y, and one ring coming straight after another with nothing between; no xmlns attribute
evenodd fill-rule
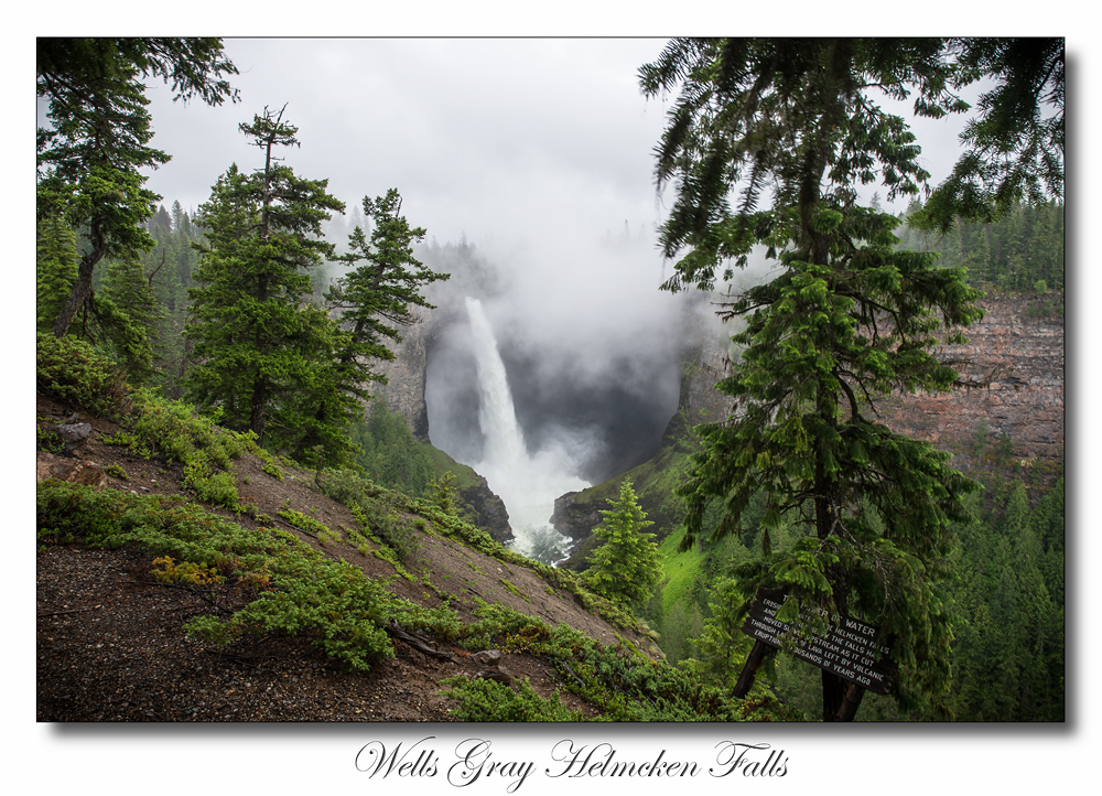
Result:
<svg viewBox="0 0 1102 796"><path fill-rule="evenodd" d="M151 84L153 144L172 155L149 186L166 206L207 198L230 163L258 168L237 125L287 104L301 148L287 163L348 203L397 187L403 214L441 244L652 237L665 208L652 148L666 104L637 71L661 39L227 39L241 101L171 101ZM954 123L955 122L955 123ZM934 178L960 122L917 131ZM883 194L883 191L882 191Z"/></svg>

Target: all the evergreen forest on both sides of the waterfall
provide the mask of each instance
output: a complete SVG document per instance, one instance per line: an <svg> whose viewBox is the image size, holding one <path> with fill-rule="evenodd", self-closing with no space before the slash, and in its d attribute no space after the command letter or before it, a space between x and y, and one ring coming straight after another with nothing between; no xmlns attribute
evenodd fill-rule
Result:
<svg viewBox="0 0 1102 796"><path fill-rule="evenodd" d="M281 164L298 130L269 108L238 133L256 144L256 162L227 164L198 208L166 208L141 186L140 169L166 155L149 146L140 78L220 103L236 69L217 40L125 41L40 42L53 125L39 133L40 357L57 338L91 346L147 411L186 406L271 455L451 510L454 462L386 406L365 410L382 378L377 363L395 356L415 308L432 309L428 286L450 277L419 259L426 230L401 214L397 190L365 196L354 223L334 223L344 203L324 178ZM898 217L878 200L858 206L852 185L868 182L874 160L893 198L929 175L850 82L901 80L927 115L949 112L941 45L797 56L785 41L676 42L640 72L650 96L681 92L657 150L659 182L678 191L660 230L677 260L665 288L712 289L754 246L785 272L723 309L744 321L734 374L717 385L732 421L676 418L655 460L594 487L612 509L581 583L657 631L679 676L721 689L734 688L750 654L739 631L748 602L785 587L793 618L860 613L898 638L897 692L864 697L860 720L1061 721L1062 477L1023 469L1013 441L984 428L972 451L980 466L959 473L946 452L866 416L894 389L957 383L931 353L934 311L949 342L980 318L983 291L1028 292L1038 313L1062 312L1062 182L1052 190L1049 161L1027 152L1023 168L981 175L988 186L1024 180L992 189L981 207L953 200L966 191ZM953 46L972 79L1022 63L988 40ZM1030 51L1046 64L1056 52ZM1058 61L1062 109L1062 45ZM122 135L102 138L105 123ZM790 151L792 140L810 143ZM767 176L776 193L763 209ZM733 207L742 179L749 187ZM628 569L640 574L617 588ZM767 654L759 678L815 719L839 714L847 688L785 652Z"/></svg>

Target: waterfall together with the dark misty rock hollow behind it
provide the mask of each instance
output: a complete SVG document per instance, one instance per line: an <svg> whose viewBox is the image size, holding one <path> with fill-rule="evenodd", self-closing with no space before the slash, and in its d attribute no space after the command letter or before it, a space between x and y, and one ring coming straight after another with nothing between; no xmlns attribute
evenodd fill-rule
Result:
<svg viewBox="0 0 1102 796"><path fill-rule="evenodd" d="M446 345L429 352L429 439L486 477L509 512L518 551L557 562L571 542L550 525L554 499L653 455L677 410L677 363L625 362L625 369L635 366L637 378L644 372L645 380L637 384L649 389L638 392L617 373L609 374L607 385L577 384L583 368L574 364L587 351L543 361L522 358L514 347L512 367L507 367L482 303L469 298L464 303L468 333L449 330ZM511 340L516 344L522 337ZM543 352L554 347L554 341L530 344ZM548 372L542 362L560 369Z"/></svg>

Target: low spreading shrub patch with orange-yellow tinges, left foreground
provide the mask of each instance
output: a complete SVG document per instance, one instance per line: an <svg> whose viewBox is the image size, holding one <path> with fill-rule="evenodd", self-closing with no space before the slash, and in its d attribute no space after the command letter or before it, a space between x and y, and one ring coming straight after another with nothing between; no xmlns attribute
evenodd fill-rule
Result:
<svg viewBox="0 0 1102 796"><path fill-rule="evenodd" d="M418 612L389 594L386 584L345 561L318 556L292 534L247 529L194 504L143 497L76 484L40 485L41 541L79 540L93 547L139 545L155 556L164 578L249 587L256 600L228 618L201 616L188 634L224 644L242 633L305 634L325 653L353 669L393 655L383 627L400 617L417 626L444 626L440 612Z"/></svg>

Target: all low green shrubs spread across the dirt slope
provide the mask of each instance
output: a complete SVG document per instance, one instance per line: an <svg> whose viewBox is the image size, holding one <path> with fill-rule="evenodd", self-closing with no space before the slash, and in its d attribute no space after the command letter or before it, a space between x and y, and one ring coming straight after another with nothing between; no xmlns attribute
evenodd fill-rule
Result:
<svg viewBox="0 0 1102 796"><path fill-rule="evenodd" d="M64 384L64 365L52 352L52 347L43 351L43 364L54 369L55 381ZM95 353L74 361L74 368L89 367L109 373L106 361ZM106 412L120 417L122 430L104 441L165 465L182 462L188 473L185 486L191 486L194 497L140 496L122 490L46 481L37 488L39 544L148 550L153 557L154 578L184 585L209 600L210 612L185 625L188 635L203 643L224 646L246 636L302 635L338 664L366 670L393 655L389 637L393 622L472 650L499 648L549 657L563 687L595 706L605 720L736 721L795 716L767 690L756 691L747 700L732 700L722 690L652 659L626 639L612 648L604 647L579 631L552 628L539 618L488 603L478 609L475 622L464 624L446 602L425 609L400 599L388 591L388 580L371 578L345 560L322 555L295 534L273 527L271 518L257 514L255 507L240 504L235 461L241 456L260 456L266 471L270 466L273 477L282 476L274 460L250 433L218 428L191 407L150 390L132 394L122 380L111 384L114 387L106 391L109 400L102 406ZM97 388L87 397L102 401L102 395L104 390ZM69 398L77 400L74 395ZM573 572L507 550L485 531L441 510L428 498L388 490L353 470L328 471L318 478L327 495L353 509L357 527L331 530L290 508L279 515L316 537L323 547L338 540L355 546L371 539L398 576L411 577L402 566L400 537L422 533L445 536L511 566L528 567L549 587L574 593L594 613L622 627L645 632L629 613L590 593ZM215 480L220 488L204 487L204 483ZM238 515L247 513L259 527L216 515L202 503L230 508ZM460 718L579 718L564 711L557 700L534 698L526 682L515 688L465 679L442 685L454 693Z"/></svg>

